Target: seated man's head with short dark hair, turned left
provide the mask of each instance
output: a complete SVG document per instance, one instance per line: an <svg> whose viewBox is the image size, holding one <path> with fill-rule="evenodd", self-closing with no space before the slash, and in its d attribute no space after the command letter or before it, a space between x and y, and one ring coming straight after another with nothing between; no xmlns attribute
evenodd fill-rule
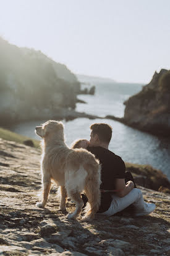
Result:
<svg viewBox="0 0 170 256"><path fill-rule="evenodd" d="M109 124L91 124L90 146L109 145L112 127Z"/></svg>

